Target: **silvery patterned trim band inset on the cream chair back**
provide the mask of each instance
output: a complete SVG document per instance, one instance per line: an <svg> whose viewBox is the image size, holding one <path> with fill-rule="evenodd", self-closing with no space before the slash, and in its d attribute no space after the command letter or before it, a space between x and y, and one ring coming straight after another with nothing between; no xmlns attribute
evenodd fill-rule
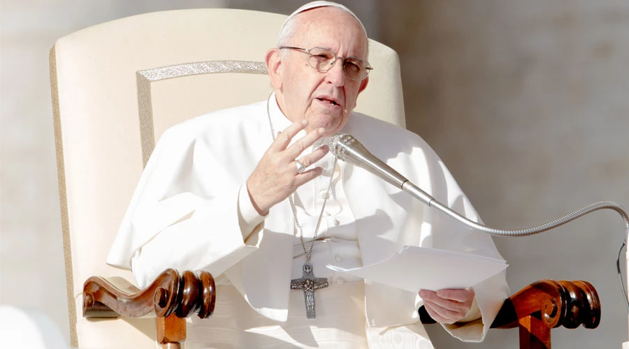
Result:
<svg viewBox="0 0 629 349"><path fill-rule="evenodd" d="M142 161L144 166L146 166L155 148L151 82L211 73L266 74L267 70L264 62L205 61L138 70L136 72L138 111L140 113L140 140L142 142Z"/></svg>

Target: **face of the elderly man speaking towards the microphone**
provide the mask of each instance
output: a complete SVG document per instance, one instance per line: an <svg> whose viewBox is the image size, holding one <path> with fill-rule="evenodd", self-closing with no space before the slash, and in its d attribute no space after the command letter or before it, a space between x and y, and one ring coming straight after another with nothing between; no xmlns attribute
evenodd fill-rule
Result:
<svg viewBox="0 0 629 349"><path fill-rule="evenodd" d="M303 17L298 19L289 46L322 47L338 57L367 61L367 38L354 17L338 8L316 8L300 15ZM345 76L342 59L330 70L321 72L308 64L305 52L284 49L279 54L282 60L279 84L274 82L274 87L282 112L291 121L307 119L308 131L319 127L326 129L326 135L340 131L367 80L356 81Z"/></svg>

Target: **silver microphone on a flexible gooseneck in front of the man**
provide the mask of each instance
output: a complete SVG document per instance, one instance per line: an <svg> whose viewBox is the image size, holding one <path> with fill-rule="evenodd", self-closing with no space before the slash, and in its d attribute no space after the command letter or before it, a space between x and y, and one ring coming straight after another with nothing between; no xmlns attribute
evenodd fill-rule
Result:
<svg viewBox="0 0 629 349"><path fill-rule="evenodd" d="M540 232L554 229L570 221L574 221L574 219L577 219L580 216L584 216L585 214L588 214L590 212L597 211L599 209L613 209L614 211L618 212L625 221L625 236L629 239L629 214L627 214L627 212L623 209L621 205L613 201L595 202L591 205L578 209L571 214L567 214L561 218L558 218L548 223L544 223L542 225L536 225L532 228L517 230L494 229L489 228L486 225L479 224L475 221L471 221L470 219L461 216L461 214L456 213L446 205L443 205L441 202L435 200L435 198L433 198L431 195L428 195L428 193L421 190L421 188L412 184L402 174L400 174L396 170L393 170L391 166L386 165L384 161L371 154L365 148L365 146L361 144L361 142L354 138L354 136L348 135L346 133L337 133L328 138L328 140L325 141L325 144L330 147L331 153L339 160L353 163L354 165L368 170L372 174L375 174L377 177L384 179L384 181L387 181L389 184L393 184L393 186L400 188L401 190L412 195L414 198L420 200L421 202L424 202L424 204L428 205L429 207L435 207L436 209L442 211L444 214L447 214L457 221L468 225L468 227L489 233L491 235L511 237L524 237L528 235L535 235L539 234Z"/></svg>

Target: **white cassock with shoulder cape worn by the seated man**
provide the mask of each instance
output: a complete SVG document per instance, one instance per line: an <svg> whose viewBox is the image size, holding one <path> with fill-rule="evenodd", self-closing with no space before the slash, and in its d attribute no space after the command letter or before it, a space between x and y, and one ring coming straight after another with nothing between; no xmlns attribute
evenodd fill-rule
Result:
<svg viewBox="0 0 629 349"><path fill-rule="evenodd" d="M290 121L270 97L275 131ZM479 221L442 161L419 136L352 113L342 129L375 156L451 209ZM302 131L294 140L305 135ZM170 128L161 137L133 195L107 262L132 268L140 287L164 269L205 269L217 279L211 318L189 320L187 348L432 348L416 292L325 267L370 265L405 245L501 258L491 237L465 228L362 168L326 155L324 174L295 195L306 246L331 193L312 254L317 318L305 317L303 292L290 290L305 260L289 200L256 218L245 181L272 142L267 102L212 112ZM304 154L312 151L305 150ZM254 213L255 215L255 213ZM257 218L261 219L261 218ZM417 266L438 267L438 266ZM505 274L474 286L479 320L444 328L463 341L482 341L509 295ZM194 320L196 319L196 320Z"/></svg>

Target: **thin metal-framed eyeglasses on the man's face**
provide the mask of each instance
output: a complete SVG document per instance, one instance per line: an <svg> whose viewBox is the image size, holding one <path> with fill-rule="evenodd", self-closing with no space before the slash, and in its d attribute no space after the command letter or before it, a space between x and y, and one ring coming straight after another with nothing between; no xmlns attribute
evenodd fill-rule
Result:
<svg viewBox="0 0 629 349"><path fill-rule="evenodd" d="M354 57L338 57L334 52L325 48L313 47L306 50L301 47L282 46L280 47L280 50L285 48L307 53L308 64L319 72L326 72L330 70L338 59L342 59L343 61L343 72L345 73L345 76L352 80L361 81L369 75L370 70L373 70L373 68L371 68L369 64L362 59Z"/></svg>

